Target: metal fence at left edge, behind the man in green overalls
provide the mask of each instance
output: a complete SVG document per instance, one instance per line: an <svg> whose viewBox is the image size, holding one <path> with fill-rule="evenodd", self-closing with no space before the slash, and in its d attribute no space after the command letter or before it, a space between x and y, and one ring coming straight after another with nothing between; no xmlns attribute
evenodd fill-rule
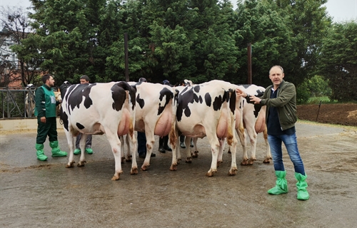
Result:
<svg viewBox="0 0 357 228"><path fill-rule="evenodd" d="M34 118L36 88L0 88L0 118Z"/></svg>

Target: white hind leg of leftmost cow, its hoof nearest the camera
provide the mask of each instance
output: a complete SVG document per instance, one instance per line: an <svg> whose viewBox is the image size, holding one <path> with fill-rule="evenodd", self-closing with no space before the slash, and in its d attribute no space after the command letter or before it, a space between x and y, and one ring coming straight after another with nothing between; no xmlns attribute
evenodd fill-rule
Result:
<svg viewBox="0 0 357 228"><path fill-rule="evenodd" d="M121 170L121 142L117 133L111 132L109 128L106 128L105 131L115 160L115 172L111 180L119 180L121 173L123 173L123 170Z"/></svg>

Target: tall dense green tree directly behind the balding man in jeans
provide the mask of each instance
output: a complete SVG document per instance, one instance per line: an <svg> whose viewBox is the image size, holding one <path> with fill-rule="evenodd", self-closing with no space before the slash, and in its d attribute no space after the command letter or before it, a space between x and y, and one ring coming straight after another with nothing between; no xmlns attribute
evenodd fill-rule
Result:
<svg viewBox="0 0 357 228"><path fill-rule="evenodd" d="M271 84L268 78L271 66L280 65L286 69L297 56L296 39L286 23L288 15L273 1L240 1L237 12L236 43L240 49L238 64L241 71L236 83L246 83L247 43L252 43L253 83L268 86ZM291 77L288 78L290 81Z"/></svg>

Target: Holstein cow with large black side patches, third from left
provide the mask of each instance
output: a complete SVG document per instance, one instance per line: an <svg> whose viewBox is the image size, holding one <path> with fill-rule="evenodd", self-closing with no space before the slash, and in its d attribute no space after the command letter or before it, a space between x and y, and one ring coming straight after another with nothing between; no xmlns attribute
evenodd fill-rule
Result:
<svg viewBox="0 0 357 228"><path fill-rule="evenodd" d="M178 93L176 100L176 132L175 135L170 135L173 149L173 163L170 170L177 169L176 158L180 156L177 136L180 132L193 138L207 136L212 152L211 168L206 173L208 177L213 176L217 171L218 150L223 147L224 140L227 139L232 157L228 175L236 175L235 86L217 80L186 86Z"/></svg>

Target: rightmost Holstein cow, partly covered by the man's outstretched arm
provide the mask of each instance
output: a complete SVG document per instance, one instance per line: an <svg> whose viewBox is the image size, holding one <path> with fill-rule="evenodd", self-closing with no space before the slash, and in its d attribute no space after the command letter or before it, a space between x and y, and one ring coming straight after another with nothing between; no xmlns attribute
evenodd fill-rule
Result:
<svg viewBox="0 0 357 228"><path fill-rule="evenodd" d="M241 90L246 91L249 95L255 95L260 97L263 95L265 88L256 85L242 85L238 86ZM241 165L253 165L253 161L256 160L256 141L257 133L263 133L264 140L266 142L266 157L263 160L264 163L269 163L271 160L271 152L268 144L268 135L266 130L266 106L254 105L253 103L248 103L244 98L242 101L243 107L243 128L246 128L248 136L251 141L251 157L248 158L246 150L246 133L244 129L236 125L236 132L241 140L241 145L243 147L243 161ZM238 123L238 120L236 120ZM241 125L240 125L241 126Z"/></svg>

